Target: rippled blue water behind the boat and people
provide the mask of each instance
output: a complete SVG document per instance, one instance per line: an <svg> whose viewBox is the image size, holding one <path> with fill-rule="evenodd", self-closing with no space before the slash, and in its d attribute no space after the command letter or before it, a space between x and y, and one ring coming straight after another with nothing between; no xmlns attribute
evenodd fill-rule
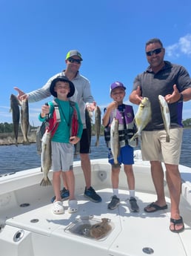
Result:
<svg viewBox="0 0 191 256"><path fill-rule="evenodd" d="M181 149L182 165L191 168L191 129L184 129L183 142ZM90 159L107 158L107 147L104 137L100 137L98 147L95 147L96 137L92 137ZM0 173L10 173L15 171L36 168L41 165L41 157L36 151L36 143L30 145L4 145L0 146ZM77 157L75 160L79 160Z"/></svg>

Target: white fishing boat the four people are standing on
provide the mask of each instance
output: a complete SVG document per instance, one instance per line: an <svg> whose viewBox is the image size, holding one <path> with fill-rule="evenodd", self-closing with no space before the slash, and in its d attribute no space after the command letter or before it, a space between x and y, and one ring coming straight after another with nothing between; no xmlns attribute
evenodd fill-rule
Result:
<svg viewBox="0 0 191 256"><path fill-rule="evenodd" d="M93 203L84 197L84 175L79 161L74 162L78 212L53 214L53 186L42 187L40 168L0 177L0 255L1 256L190 256L191 255L191 169L180 165L182 178L181 216L185 230L170 232L170 198L164 189L168 209L144 212L155 201L150 164L135 151L135 185L140 211L129 209L127 179L120 173L121 203L115 210L107 204L113 195L111 168L107 159L91 160L93 188L102 197ZM52 171L49 172L52 179ZM93 225L107 218L110 227L102 237L93 237ZM107 227L108 227L107 226ZM95 227L95 226L94 226Z"/></svg>

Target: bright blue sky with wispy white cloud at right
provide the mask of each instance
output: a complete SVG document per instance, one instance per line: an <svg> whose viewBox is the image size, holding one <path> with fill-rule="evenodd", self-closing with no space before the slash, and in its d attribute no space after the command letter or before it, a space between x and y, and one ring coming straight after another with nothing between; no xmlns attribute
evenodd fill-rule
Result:
<svg viewBox="0 0 191 256"><path fill-rule="evenodd" d="M65 68L69 50L83 58L80 73L90 80L97 105L110 102L110 84L127 87L148 66L145 43L161 39L165 60L183 65L191 74L190 0L1 0L0 1L0 123L13 122L10 94L41 88ZM30 103L30 125L40 125L41 105ZM134 111L137 106L133 105ZM191 101L183 119L191 118Z"/></svg>

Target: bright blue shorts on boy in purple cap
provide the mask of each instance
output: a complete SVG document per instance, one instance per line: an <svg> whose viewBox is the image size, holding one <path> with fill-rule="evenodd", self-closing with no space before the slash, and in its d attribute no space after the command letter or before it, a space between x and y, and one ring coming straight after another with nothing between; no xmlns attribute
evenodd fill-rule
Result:
<svg viewBox="0 0 191 256"><path fill-rule="evenodd" d="M112 154L111 148L109 148L108 160L109 160L109 163L113 165L113 154ZM118 155L118 163L120 165L121 163L123 163L124 165L133 165L134 163L133 148L130 147L130 145L125 145L120 149L120 152Z"/></svg>

